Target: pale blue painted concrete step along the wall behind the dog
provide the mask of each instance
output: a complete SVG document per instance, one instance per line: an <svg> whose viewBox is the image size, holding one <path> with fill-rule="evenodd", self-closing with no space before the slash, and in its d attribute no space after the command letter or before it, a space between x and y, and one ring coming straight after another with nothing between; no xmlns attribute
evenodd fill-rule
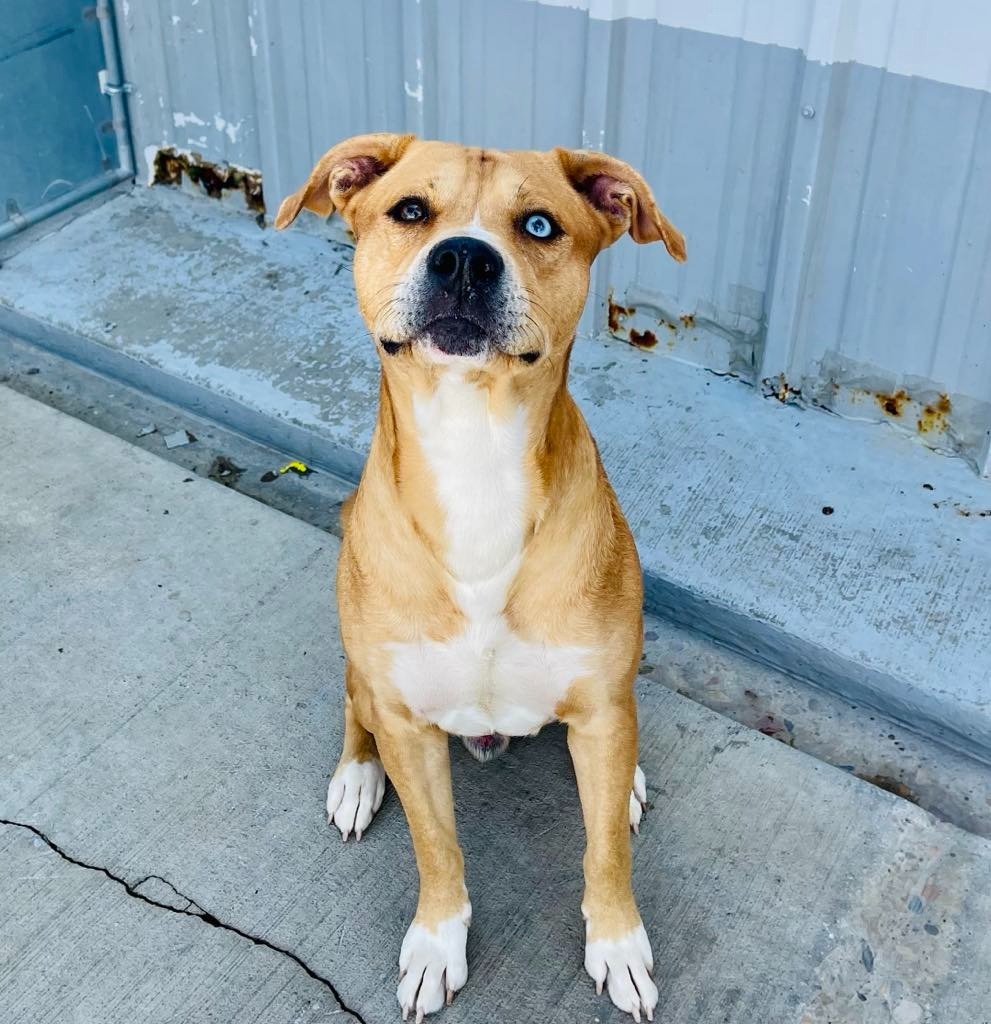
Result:
<svg viewBox="0 0 991 1024"><path fill-rule="evenodd" d="M356 478L346 247L138 189L7 251L0 328ZM572 367L650 609L991 761L991 481L619 342Z"/></svg>

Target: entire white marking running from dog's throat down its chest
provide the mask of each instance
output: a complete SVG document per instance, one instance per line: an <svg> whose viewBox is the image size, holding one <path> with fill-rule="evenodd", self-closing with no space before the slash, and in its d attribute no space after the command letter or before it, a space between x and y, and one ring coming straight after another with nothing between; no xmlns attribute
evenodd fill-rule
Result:
<svg viewBox="0 0 991 1024"><path fill-rule="evenodd" d="M393 645L393 684L412 711L447 732L535 732L554 718L590 652L522 640L503 614L523 550L525 411L493 417L485 390L451 367L429 398L415 399L414 413L468 625L443 643Z"/></svg>

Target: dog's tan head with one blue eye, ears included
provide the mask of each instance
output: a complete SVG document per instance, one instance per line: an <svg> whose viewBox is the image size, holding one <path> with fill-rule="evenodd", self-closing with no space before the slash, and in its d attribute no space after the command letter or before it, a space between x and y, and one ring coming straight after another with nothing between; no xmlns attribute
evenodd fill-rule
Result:
<svg viewBox="0 0 991 1024"><path fill-rule="evenodd" d="M624 231L685 259L643 178L586 151L359 135L320 158L275 226L303 207L353 231L358 303L387 357L537 364L570 345L592 261Z"/></svg>

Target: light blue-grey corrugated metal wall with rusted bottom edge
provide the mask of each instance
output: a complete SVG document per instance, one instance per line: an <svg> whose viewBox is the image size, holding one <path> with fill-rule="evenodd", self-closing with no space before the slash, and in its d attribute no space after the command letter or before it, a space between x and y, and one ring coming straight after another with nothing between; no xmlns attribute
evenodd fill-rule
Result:
<svg viewBox="0 0 991 1024"><path fill-rule="evenodd" d="M616 246L588 330L988 471L991 5L118 0L118 18L146 163L258 169L273 209L356 132L607 150L689 261Z"/></svg>

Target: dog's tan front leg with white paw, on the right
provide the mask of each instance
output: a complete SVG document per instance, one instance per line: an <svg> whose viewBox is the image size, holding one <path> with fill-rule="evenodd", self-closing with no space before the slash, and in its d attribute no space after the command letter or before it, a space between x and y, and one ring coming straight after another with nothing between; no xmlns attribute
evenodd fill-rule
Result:
<svg viewBox="0 0 991 1024"><path fill-rule="evenodd" d="M580 701L566 718L568 749L585 818L585 967L602 991L634 1020L653 1020L653 955L631 882L631 785L637 771L633 694Z"/></svg>

